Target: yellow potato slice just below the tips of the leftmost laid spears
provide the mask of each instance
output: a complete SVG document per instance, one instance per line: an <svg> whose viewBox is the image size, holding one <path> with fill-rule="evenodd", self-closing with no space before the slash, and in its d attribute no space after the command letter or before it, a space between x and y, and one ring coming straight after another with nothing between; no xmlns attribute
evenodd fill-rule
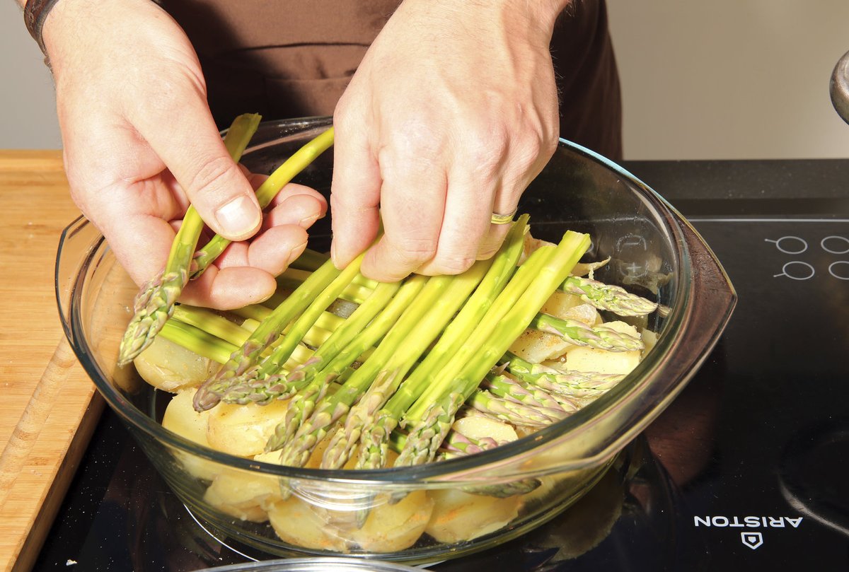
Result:
<svg viewBox="0 0 849 572"><path fill-rule="evenodd" d="M265 451L274 428L284 420L289 401L268 405L219 403L211 410L206 439L210 446L239 457L253 457Z"/></svg>

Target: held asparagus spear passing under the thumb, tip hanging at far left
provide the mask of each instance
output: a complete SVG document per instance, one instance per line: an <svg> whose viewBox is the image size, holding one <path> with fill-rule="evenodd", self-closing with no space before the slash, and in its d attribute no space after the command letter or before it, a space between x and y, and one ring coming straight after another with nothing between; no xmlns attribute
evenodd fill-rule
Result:
<svg viewBox="0 0 849 572"><path fill-rule="evenodd" d="M224 136L224 146L234 161L238 162L241 158L259 122L260 116L256 114L239 115L233 120L233 125ZM159 276L146 283L136 296L133 316L118 350L119 366L126 366L142 353L171 317L174 304L188 283L194 249L203 228L203 220L194 206L190 205L171 244L165 268Z"/></svg>

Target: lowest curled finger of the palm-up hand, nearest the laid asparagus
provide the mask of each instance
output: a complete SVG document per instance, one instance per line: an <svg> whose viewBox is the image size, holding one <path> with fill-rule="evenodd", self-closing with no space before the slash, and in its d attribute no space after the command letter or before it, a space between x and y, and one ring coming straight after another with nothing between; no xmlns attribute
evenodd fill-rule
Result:
<svg viewBox="0 0 849 572"><path fill-rule="evenodd" d="M192 306L233 310L267 300L277 289L274 277L250 266L218 269L210 266L183 289L180 300Z"/></svg>

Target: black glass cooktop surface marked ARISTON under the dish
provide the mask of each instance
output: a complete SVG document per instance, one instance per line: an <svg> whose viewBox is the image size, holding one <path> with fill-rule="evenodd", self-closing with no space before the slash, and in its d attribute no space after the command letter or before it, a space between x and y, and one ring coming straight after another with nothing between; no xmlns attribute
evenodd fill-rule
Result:
<svg viewBox="0 0 849 572"><path fill-rule="evenodd" d="M582 501L430 569L849 569L849 216L686 205L739 294L717 348ZM267 557L209 536L106 412L35 570L250 558Z"/></svg>

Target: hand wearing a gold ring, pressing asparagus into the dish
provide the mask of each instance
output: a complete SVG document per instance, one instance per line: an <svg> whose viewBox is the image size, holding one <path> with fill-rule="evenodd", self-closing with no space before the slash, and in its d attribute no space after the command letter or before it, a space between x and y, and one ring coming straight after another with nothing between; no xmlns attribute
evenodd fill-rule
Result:
<svg viewBox="0 0 849 572"><path fill-rule="evenodd" d="M335 111L333 257L363 274L463 272L498 250L557 145L548 45L565 2L405 0ZM380 210L380 214L379 214Z"/></svg>

